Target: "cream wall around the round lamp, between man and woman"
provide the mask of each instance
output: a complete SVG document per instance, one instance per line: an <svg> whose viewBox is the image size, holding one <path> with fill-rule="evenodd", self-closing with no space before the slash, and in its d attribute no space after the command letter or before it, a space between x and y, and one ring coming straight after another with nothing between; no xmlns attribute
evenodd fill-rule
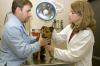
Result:
<svg viewBox="0 0 100 66"><path fill-rule="evenodd" d="M70 9L70 0L55 0L55 1L64 7L61 10L61 13L57 13L55 19L63 20L64 26L65 26L69 22L68 21L68 12ZM33 9L32 9L33 19L31 19L31 25L30 25L31 28L40 29L41 26L43 26L43 25L47 25L47 26L52 25L52 20L51 21L43 21L36 16L35 9L36 9L38 0L32 0L32 3L33 3ZM57 8L59 8L59 7L57 7ZM38 25L38 26L36 26L36 25Z"/></svg>

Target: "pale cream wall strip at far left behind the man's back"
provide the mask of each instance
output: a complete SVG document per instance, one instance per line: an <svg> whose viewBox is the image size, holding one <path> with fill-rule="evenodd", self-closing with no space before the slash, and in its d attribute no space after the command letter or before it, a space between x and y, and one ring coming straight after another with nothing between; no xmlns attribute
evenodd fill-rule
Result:
<svg viewBox="0 0 100 66"><path fill-rule="evenodd" d="M4 20L6 13L11 9L11 3L13 0L0 0L0 38L3 30Z"/></svg>

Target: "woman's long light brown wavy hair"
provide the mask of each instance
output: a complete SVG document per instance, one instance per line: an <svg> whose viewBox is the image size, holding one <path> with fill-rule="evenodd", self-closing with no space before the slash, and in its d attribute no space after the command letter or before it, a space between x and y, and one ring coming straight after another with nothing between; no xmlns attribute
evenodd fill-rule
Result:
<svg viewBox="0 0 100 66"><path fill-rule="evenodd" d="M71 4L72 10L81 16L80 22L72 23L71 27L75 32L85 30L88 27L95 32L96 20L91 5L87 1L76 1Z"/></svg>

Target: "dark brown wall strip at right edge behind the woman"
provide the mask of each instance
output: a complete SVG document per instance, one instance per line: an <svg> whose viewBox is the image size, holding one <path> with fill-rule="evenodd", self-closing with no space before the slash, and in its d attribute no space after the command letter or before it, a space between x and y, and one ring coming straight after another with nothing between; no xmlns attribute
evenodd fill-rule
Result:
<svg viewBox="0 0 100 66"><path fill-rule="evenodd" d="M100 0L94 0L91 5L95 12L96 18L96 33L95 33L95 44L93 52L93 66L100 65Z"/></svg>

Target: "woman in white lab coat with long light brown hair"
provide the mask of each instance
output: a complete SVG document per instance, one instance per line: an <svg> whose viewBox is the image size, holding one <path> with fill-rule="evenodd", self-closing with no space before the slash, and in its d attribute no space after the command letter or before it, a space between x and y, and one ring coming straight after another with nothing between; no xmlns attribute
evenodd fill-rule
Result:
<svg viewBox="0 0 100 66"><path fill-rule="evenodd" d="M66 49L47 46L54 52L54 58L65 61L71 66L92 66L94 32L96 21L90 4L86 1L75 1L69 13L70 24L61 32L53 32L56 43L66 43Z"/></svg>

